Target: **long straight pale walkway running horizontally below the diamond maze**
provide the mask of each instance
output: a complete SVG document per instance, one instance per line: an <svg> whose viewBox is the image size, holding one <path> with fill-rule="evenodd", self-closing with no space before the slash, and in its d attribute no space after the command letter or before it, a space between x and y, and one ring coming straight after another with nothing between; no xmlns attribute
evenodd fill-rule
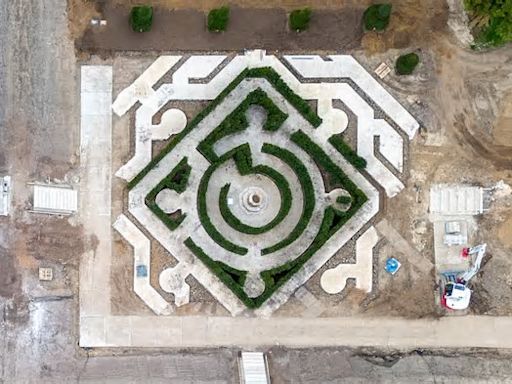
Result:
<svg viewBox="0 0 512 384"><path fill-rule="evenodd" d="M105 317L86 319L82 347L372 346L512 348L512 318ZM92 329L92 328L91 328Z"/></svg>

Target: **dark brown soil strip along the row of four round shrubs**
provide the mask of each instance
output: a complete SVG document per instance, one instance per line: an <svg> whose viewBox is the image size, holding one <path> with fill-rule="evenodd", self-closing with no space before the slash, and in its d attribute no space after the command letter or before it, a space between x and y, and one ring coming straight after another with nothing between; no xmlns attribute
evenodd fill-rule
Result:
<svg viewBox="0 0 512 384"><path fill-rule="evenodd" d="M89 27L76 47L86 52L112 51L231 51L338 50L357 47L362 36L362 10L317 10L307 33L290 31L284 9L232 7L226 32L211 33L205 14L194 9L154 9L150 32L133 32L128 23L130 9L106 5L105 27Z"/></svg>

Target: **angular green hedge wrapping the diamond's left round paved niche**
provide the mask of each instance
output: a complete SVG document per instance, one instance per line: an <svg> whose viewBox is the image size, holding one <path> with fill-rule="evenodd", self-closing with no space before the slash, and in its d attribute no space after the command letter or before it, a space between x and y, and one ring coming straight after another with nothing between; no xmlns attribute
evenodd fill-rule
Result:
<svg viewBox="0 0 512 384"><path fill-rule="evenodd" d="M178 218L172 219L155 202L156 196L164 188L173 189L182 193L187 188L188 178L192 167L188 164L188 159L184 157L160 183L153 188L145 198L146 206L160 219L171 231L179 227L185 219L184 214Z"/></svg>

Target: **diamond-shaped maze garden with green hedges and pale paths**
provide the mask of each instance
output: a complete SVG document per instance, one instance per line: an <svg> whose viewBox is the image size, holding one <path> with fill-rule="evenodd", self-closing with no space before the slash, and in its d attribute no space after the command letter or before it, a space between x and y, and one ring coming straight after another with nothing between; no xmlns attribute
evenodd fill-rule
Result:
<svg viewBox="0 0 512 384"><path fill-rule="evenodd" d="M131 180L130 212L221 302L260 307L320 268L367 201L348 176L364 160L332 126L272 68L246 69Z"/></svg>

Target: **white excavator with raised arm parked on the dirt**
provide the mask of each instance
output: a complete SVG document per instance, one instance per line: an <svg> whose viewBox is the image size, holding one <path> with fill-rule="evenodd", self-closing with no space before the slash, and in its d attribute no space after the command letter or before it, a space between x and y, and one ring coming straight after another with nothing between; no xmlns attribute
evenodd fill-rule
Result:
<svg viewBox="0 0 512 384"><path fill-rule="evenodd" d="M464 272L443 273L444 290L441 298L443 306L449 309L462 310L469 306L471 289L469 281L477 274L485 255L487 244L480 244L471 248L462 249L462 257L471 257L471 268Z"/></svg>

